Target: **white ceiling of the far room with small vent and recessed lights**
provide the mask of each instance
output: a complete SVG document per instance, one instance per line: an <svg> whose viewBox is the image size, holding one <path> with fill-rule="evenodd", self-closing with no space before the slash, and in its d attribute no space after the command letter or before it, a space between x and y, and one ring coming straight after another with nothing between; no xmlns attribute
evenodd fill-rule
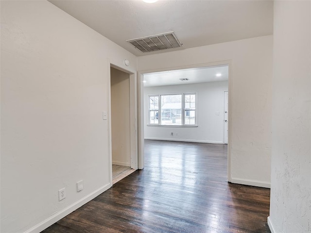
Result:
<svg viewBox="0 0 311 233"><path fill-rule="evenodd" d="M221 74L217 77L216 74ZM188 81L180 79L188 78ZM221 82L228 80L228 66L178 69L144 74L144 87L192 83Z"/></svg>

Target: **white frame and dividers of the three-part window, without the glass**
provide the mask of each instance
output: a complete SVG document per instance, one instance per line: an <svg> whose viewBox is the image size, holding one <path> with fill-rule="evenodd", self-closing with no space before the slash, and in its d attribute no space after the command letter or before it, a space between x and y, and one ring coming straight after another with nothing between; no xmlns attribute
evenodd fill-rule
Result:
<svg viewBox="0 0 311 233"><path fill-rule="evenodd" d="M161 124L161 96L169 96L169 95L182 95L181 98L181 125L162 125ZM194 124L185 124L185 95L195 95L195 119ZM150 111L155 111L154 109L150 109L150 97L158 97L158 123L150 123ZM193 109L190 109L193 111ZM157 95L148 95L148 126L160 126L160 127L198 127L198 93L197 92L185 92L185 93L170 93L170 94L157 94Z"/></svg>

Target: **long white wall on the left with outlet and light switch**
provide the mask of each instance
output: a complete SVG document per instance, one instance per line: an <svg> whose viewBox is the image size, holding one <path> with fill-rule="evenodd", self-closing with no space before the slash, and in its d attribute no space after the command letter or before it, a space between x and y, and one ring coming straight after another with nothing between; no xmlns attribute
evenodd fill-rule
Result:
<svg viewBox="0 0 311 233"><path fill-rule="evenodd" d="M1 1L1 233L40 232L110 187L108 59L125 58L136 72L48 1Z"/></svg>

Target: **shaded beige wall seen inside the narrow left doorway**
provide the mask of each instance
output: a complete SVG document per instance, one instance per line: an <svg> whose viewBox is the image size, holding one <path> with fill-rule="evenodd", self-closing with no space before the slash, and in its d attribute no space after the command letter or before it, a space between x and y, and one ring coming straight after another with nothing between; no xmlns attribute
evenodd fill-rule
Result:
<svg viewBox="0 0 311 233"><path fill-rule="evenodd" d="M131 166L130 75L111 67L112 164Z"/></svg>

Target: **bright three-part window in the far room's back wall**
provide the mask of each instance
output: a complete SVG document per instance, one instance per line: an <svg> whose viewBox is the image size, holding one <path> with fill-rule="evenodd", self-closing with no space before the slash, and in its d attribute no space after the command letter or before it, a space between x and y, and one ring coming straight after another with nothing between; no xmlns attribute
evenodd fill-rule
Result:
<svg viewBox="0 0 311 233"><path fill-rule="evenodd" d="M149 124L194 126L196 104L196 93L149 96Z"/></svg>

